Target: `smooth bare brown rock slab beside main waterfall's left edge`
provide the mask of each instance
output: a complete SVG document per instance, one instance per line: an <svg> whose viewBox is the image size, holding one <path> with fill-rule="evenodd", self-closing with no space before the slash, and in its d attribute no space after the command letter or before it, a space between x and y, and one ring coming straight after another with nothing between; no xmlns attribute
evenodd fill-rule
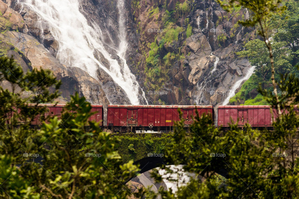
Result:
<svg viewBox="0 0 299 199"><path fill-rule="evenodd" d="M74 95L75 92L78 92L81 96L84 95L90 103L103 104L104 106L109 104L104 91L99 86L100 83L89 76L87 72L77 67L68 68L62 65L43 45L30 35L10 31L8 32L8 37L15 47L24 52L30 60L32 68L49 69L58 80L63 82L60 91L65 100L70 99L69 95ZM61 101L62 99L59 98L57 100Z"/></svg>

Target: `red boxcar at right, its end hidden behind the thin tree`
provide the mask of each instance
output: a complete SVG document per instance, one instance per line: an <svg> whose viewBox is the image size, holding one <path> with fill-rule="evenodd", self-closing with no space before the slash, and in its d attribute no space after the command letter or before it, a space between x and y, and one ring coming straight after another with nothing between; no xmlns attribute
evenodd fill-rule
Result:
<svg viewBox="0 0 299 199"><path fill-rule="evenodd" d="M297 108L295 108L297 109ZM274 121L277 118L276 109L272 109ZM270 106L219 106L218 107L218 126L228 127L231 123L238 121L238 126L243 127L249 123L252 127L272 128L272 114Z"/></svg>

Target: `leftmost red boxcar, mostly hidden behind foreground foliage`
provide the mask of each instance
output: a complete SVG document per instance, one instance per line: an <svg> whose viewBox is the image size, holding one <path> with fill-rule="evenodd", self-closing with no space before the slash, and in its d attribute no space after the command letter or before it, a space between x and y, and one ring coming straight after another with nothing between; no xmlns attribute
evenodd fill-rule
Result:
<svg viewBox="0 0 299 199"><path fill-rule="evenodd" d="M36 104L27 104L30 106L36 106ZM52 115L52 116L61 116L62 108L65 106L65 104L38 104L39 107L46 107L48 109L47 112L45 112L45 117ZM95 121L95 122L101 122L101 126L104 126L104 109L102 105L91 105L92 109L91 112L96 112L93 114L89 121ZM32 122L32 125L40 125L40 116L37 116L34 121Z"/></svg>

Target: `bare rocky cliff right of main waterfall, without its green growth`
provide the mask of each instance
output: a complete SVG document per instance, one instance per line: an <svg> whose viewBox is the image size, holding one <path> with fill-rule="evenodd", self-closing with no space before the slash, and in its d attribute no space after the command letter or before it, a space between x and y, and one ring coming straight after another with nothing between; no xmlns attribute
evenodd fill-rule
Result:
<svg viewBox="0 0 299 199"><path fill-rule="evenodd" d="M142 55L137 54L135 59L141 57L143 61L139 65L140 71L146 65L150 51L148 44L155 42L159 45L163 30L165 32L167 28L163 18L167 12L175 9L175 5L178 7L183 2L188 1L140 1L134 7L136 24L139 24L135 27L140 32L137 34L139 49L145 51L139 51ZM152 102L162 99L166 104L219 104L250 67L246 59L235 56L241 44L255 36L253 30L236 24L238 20L248 17L246 10L230 14L223 11L216 2L208 0L190 1L189 6L191 9L178 16L173 26L183 27L185 31L188 26L192 27L192 35L179 33L178 40L164 44L160 54L164 57L169 52L176 53L183 55L183 59L173 60L167 81L159 88L161 92L156 92L159 96L147 95ZM154 7L159 7L159 12L149 15ZM140 77L143 78L143 75Z"/></svg>

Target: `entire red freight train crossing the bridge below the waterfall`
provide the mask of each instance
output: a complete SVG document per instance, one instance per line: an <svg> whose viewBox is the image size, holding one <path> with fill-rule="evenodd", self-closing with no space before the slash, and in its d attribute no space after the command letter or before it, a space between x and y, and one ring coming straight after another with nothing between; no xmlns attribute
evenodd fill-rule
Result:
<svg viewBox="0 0 299 199"><path fill-rule="evenodd" d="M28 104L36 106L36 104ZM39 104L40 107L46 107L48 111L45 116L55 115L60 117L65 104ZM180 119L185 120L185 127L189 127L196 114L211 114L214 120L213 106L185 106L185 105L108 105L107 108L107 126L104 125L104 110L102 105L91 105L92 112L95 112L89 120L101 122L103 129L109 129L112 132L169 132L172 130L174 122ZM182 118L179 117L178 109L183 112ZM297 106L294 111L299 113ZM276 109L273 109L274 121L277 118ZM240 128L249 123L254 128L273 129L272 114L270 106L219 106L217 126L229 127L231 119L233 123L238 121ZM40 116L37 116L32 122L36 127L41 124Z"/></svg>

